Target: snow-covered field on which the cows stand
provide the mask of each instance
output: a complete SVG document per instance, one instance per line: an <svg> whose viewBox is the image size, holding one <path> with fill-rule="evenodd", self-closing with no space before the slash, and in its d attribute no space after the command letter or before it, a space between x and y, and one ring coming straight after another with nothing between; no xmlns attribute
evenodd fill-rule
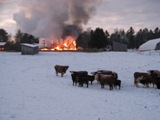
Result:
<svg viewBox="0 0 160 120"><path fill-rule="evenodd" d="M69 65L64 77L54 65ZM112 70L122 89L72 85L71 70ZM0 120L159 120L160 90L133 85L133 73L160 69L158 55L138 52L0 52Z"/></svg>

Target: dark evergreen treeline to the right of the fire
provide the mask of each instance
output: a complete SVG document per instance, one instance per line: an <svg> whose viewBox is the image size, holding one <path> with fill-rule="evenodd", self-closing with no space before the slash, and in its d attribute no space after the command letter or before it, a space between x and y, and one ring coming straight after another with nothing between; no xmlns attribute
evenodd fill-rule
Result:
<svg viewBox="0 0 160 120"><path fill-rule="evenodd" d="M128 49L137 49L148 40L156 38L160 38L160 29L158 27L154 30L144 28L137 32L133 27L130 27L127 31L115 29L111 34L107 30L96 28L95 30L81 33L77 39L77 45L83 48L101 49L106 48L107 45L112 45L113 42L119 42L126 44Z"/></svg>

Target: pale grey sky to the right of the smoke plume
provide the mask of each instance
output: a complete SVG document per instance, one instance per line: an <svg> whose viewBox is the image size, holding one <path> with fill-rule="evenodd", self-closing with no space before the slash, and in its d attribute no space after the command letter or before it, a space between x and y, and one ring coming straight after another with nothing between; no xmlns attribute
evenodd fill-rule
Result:
<svg viewBox="0 0 160 120"><path fill-rule="evenodd" d="M107 30L160 27L160 0L105 0L90 25ZM96 21L96 22L95 22Z"/></svg>

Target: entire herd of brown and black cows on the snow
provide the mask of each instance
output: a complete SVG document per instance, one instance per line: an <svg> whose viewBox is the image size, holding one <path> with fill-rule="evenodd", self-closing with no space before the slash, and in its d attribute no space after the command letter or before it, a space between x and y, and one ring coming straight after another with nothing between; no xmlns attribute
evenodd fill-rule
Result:
<svg viewBox="0 0 160 120"><path fill-rule="evenodd" d="M61 77L66 73L69 66L55 65L55 72L58 76L58 73L61 74ZM121 89L121 80L118 79L118 74L110 70L97 70L91 72L91 75L88 74L88 71L70 71L71 79L73 85L78 85L83 87L86 84L88 88L89 84L92 85L93 81L96 80L97 83L101 85L101 88L104 88L105 85L109 86L110 90L117 87ZM153 87L156 85L160 89L160 71L159 70L149 70L147 72L135 72L134 73L134 85L139 87L139 84L144 85L144 87Z"/></svg>

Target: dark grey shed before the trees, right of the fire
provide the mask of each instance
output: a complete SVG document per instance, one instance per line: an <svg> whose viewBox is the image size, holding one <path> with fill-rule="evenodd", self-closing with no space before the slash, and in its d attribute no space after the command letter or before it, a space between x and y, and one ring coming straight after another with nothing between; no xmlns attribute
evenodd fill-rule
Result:
<svg viewBox="0 0 160 120"><path fill-rule="evenodd" d="M127 51L127 45L119 42L113 42L112 51Z"/></svg>

